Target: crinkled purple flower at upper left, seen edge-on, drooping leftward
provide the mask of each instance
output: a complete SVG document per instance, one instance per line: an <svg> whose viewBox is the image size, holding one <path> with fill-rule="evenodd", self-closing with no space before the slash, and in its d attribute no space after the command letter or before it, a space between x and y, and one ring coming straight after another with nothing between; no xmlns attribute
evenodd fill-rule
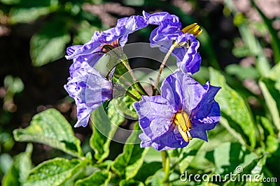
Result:
<svg viewBox="0 0 280 186"><path fill-rule="evenodd" d="M104 45L111 45L113 47L123 46L127 42L127 37L130 33L147 25L146 20L142 16L124 17L118 20L115 27L102 32L96 31L91 40L85 43L85 45L68 47L66 50L68 55L65 57L66 59L73 59L74 63L76 60L87 61L93 67L104 55L104 52L101 51Z"/></svg>

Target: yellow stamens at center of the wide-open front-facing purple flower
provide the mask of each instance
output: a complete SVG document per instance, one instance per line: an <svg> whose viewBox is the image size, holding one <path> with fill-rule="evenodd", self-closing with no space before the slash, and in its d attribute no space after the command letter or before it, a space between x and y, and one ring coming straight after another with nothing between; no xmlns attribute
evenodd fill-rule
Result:
<svg viewBox="0 0 280 186"><path fill-rule="evenodd" d="M190 135L190 117L185 111L176 112L173 116L173 122L177 125L183 139L188 142L193 137Z"/></svg>

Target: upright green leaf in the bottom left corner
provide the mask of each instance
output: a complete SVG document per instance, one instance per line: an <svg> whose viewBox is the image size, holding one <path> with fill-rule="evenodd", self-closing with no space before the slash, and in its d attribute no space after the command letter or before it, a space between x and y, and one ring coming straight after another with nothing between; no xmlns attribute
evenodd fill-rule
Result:
<svg viewBox="0 0 280 186"><path fill-rule="evenodd" d="M32 169L32 150L32 144L27 144L24 153L15 155L12 166L10 166L8 173L3 178L3 186L20 186L27 180L28 173Z"/></svg>

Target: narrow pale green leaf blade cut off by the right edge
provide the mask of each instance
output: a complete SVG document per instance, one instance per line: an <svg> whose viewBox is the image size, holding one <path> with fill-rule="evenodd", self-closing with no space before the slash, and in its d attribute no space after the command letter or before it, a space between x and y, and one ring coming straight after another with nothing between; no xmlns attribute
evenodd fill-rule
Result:
<svg viewBox="0 0 280 186"><path fill-rule="evenodd" d="M262 90L262 94L265 97L265 102L267 104L267 108L269 109L269 113L272 116L272 121L278 131L280 131L280 117L279 111L277 109L276 100L273 99L272 95L269 93L269 90L265 83L260 80L259 81L260 89Z"/></svg>

